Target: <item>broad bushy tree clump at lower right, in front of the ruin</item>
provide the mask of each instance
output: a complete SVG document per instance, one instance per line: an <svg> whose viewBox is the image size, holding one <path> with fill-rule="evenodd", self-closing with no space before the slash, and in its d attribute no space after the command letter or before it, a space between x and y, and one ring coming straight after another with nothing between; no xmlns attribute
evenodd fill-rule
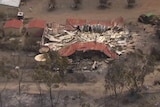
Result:
<svg viewBox="0 0 160 107"><path fill-rule="evenodd" d="M153 70L154 61L151 55L145 55L140 50L128 53L109 65L105 76L106 90L113 91L116 96L124 87L127 87L130 94L139 93L145 76Z"/></svg>

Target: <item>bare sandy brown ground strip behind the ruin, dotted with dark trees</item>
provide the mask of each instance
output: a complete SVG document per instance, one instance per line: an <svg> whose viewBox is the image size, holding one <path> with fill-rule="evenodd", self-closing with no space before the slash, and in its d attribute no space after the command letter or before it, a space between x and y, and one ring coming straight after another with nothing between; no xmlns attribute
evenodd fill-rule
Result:
<svg viewBox="0 0 160 107"><path fill-rule="evenodd" d="M21 11L26 17L44 19L50 22L64 23L66 18L82 19L111 19L123 16L127 20L136 20L142 13L152 12L159 14L160 0L137 0L137 6L126 9L127 0L114 0L109 9L99 10L98 0L83 0L80 10L73 11L70 8L72 0L57 0L56 9L47 11L49 0L29 0L26 5L21 6ZM29 8L32 7L32 12Z"/></svg>

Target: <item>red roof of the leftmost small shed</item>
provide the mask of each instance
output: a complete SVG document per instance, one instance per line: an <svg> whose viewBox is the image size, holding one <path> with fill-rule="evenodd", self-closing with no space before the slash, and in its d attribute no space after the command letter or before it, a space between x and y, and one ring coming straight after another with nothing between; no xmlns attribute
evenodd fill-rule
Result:
<svg viewBox="0 0 160 107"><path fill-rule="evenodd" d="M4 28L21 28L23 26L23 22L21 20L9 20L6 21Z"/></svg>

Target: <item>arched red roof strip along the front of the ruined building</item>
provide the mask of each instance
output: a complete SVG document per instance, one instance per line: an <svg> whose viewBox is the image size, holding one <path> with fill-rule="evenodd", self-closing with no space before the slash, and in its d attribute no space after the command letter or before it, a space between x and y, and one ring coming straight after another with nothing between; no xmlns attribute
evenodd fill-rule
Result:
<svg viewBox="0 0 160 107"><path fill-rule="evenodd" d="M96 42L87 42L87 43L77 42L71 44L70 46L60 49L59 53L61 56L70 56L76 51L87 51L87 50L96 50L103 52L108 57L111 57L113 59L117 57L117 55L115 53L112 53L105 44Z"/></svg>

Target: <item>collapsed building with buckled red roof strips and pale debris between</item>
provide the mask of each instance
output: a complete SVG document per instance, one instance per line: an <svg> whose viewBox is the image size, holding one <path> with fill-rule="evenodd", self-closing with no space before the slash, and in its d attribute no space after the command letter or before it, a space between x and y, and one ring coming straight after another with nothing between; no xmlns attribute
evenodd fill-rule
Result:
<svg viewBox="0 0 160 107"><path fill-rule="evenodd" d="M132 36L122 17L111 21L67 19L66 26L48 25L42 36L42 46L59 51L62 56L69 56L75 51L98 50L116 58L125 52L124 47Z"/></svg>

